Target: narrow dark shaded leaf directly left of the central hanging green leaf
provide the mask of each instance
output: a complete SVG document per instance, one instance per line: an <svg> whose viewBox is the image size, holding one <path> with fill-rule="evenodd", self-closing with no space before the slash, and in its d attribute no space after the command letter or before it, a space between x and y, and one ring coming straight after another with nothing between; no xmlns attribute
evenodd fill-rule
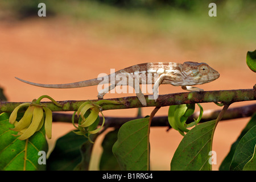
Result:
<svg viewBox="0 0 256 182"><path fill-rule="evenodd" d="M100 170L101 171L119 171L119 165L117 159L112 152L112 147L117 140L118 129L110 131L105 135L105 138L101 144L103 152L100 160Z"/></svg>

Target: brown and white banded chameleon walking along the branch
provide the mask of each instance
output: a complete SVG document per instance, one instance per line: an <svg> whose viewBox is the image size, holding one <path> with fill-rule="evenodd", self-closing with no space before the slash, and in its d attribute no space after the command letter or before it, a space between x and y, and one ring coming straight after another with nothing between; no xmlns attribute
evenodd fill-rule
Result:
<svg viewBox="0 0 256 182"><path fill-rule="evenodd" d="M144 75L143 79L136 77L134 75ZM157 75L157 77L150 76ZM158 88L160 84L171 84L174 86L181 86L182 89L187 91L196 91L201 92L203 89L194 87L192 85L201 85L211 81L216 80L220 77L220 74L215 71L213 68L209 67L206 63L197 63L192 61L181 63L173 62L156 62L156 63L142 63L133 65L121 69L117 72L114 72L105 77L93 78L90 80L84 80L79 82L72 82L69 84L38 84L20 78L15 77L16 79L25 82L30 85L40 86L44 88L80 88L86 86L100 85L100 84L110 84L109 87L106 87L98 92L98 99L102 99L106 93L114 89L118 85L119 80L111 81L113 76L121 75L123 78L130 78L133 76L133 82L129 82L128 79L123 79L123 85L133 86L135 91L137 90L136 96L143 106L147 106L146 98L139 87L139 84L145 84L150 81L150 84L154 84L152 90L154 94L155 101L158 97ZM107 78L107 81L101 81L104 78ZM139 84L135 84L137 80ZM147 82L145 82L147 81Z"/></svg>

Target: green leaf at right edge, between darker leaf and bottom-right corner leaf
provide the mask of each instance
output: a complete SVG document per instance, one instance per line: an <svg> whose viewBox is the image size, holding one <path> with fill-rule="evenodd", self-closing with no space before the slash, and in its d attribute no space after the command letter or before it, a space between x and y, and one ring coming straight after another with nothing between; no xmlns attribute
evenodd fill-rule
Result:
<svg viewBox="0 0 256 182"><path fill-rule="evenodd" d="M230 170L241 171L245 164L253 156L254 147L256 144L256 125L252 127L240 140L237 145L236 151L232 162L230 164Z"/></svg>

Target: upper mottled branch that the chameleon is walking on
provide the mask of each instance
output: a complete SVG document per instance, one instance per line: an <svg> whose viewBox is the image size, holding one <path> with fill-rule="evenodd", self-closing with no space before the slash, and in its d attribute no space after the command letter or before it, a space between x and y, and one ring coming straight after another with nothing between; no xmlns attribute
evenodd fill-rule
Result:
<svg viewBox="0 0 256 182"><path fill-rule="evenodd" d="M253 101L256 100L255 89L239 89L239 90L217 90L217 91L204 91L204 92L183 92L160 95L157 102L154 100L148 100L146 97L148 107L164 107L170 105L179 104L192 104L192 103L204 103L204 102L241 102L241 101ZM110 98L108 100L118 101L119 105L108 104L102 105L102 110L113 109L129 109L142 107L137 97L123 97L123 98ZM97 102L98 100L91 100ZM46 104L52 111L76 111L84 101L57 101L61 107L56 106L52 102L42 102ZM0 102L0 113L11 112L18 105L23 102ZM23 110L26 108L23 108ZM22 110L20 110L22 111Z"/></svg>

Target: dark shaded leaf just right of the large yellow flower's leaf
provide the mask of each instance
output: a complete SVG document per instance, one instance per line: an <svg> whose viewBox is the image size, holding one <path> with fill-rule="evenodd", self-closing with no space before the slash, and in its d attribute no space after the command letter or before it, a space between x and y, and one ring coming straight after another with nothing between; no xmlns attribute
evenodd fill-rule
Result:
<svg viewBox="0 0 256 182"><path fill-rule="evenodd" d="M57 139L54 150L47 160L47 170L73 170L82 160L80 148L88 139L73 131Z"/></svg>

